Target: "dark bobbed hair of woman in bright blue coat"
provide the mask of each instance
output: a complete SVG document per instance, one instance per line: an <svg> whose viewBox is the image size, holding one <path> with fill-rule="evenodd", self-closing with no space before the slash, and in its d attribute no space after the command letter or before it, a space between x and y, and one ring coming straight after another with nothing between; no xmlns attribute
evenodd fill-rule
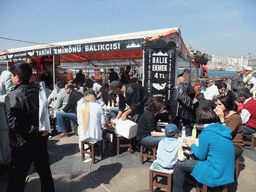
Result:
<svg viewBox="0 0 256 192"><path fill-rule="evenodd" d="M196 117L199 124L216 123L219 121L218 116L209 106L200 108L196 113Z"/></svg>

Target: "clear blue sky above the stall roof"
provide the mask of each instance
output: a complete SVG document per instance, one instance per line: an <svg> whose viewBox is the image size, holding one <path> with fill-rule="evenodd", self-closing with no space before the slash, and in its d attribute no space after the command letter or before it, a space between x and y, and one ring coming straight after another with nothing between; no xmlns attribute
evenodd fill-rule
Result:
<svg viewBox="0 0 256 192"><path fill-rule="evenodd" d="M55 43L180 27L187 47L256 57L255 0L0 0L0 37ZM34 44L0 38L0 52Z"/></svg>

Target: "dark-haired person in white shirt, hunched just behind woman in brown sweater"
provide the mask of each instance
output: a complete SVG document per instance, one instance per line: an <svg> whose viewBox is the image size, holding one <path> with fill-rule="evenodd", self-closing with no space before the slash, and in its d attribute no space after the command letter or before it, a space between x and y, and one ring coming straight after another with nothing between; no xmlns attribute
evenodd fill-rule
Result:
<svg viewBox="0 0 256 192"><path fill-rule="evenodd" d="M219 98L221 95L225 93L227 89L227 85L225 83L218 83L216 85L212 85L204 92L204 97L207 100L215 100Z"/></svg>

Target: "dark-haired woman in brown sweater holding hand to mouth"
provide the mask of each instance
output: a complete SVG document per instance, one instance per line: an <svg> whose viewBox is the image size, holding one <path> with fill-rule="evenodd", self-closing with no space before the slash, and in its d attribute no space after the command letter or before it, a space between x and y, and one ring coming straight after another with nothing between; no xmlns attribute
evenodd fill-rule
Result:
<svg viewBox="0 0 256 192"><path fill-rule="evenodd" d="M222 96L217 99L217 108L214 111L220 122L231 129L235 158L238 158L244 151L244 140L242 119L237 112L237 105L228 96Z"/></svg>

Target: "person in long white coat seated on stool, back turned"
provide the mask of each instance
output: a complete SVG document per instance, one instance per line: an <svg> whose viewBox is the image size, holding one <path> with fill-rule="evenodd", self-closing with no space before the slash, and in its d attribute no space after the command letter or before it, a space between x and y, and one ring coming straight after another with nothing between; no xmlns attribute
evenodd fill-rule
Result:
<svg viewBox="0 0 256 192"><path fill-rule="evenodd" d="M105 115L92 90L86 91L77 102L77 122L80 149L81 141L89 137L102 139L101 125L105 124Z"/></svg>

